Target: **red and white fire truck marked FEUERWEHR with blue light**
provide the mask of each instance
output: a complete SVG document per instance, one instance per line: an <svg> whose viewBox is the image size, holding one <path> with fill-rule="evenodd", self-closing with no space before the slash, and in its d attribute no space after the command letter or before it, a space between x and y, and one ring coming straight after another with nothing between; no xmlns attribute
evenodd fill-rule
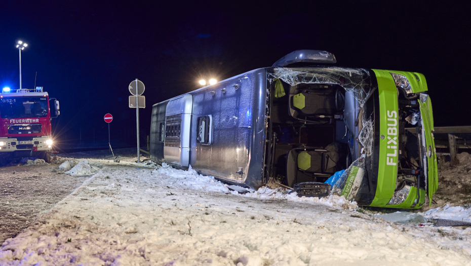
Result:
<svg viewBox="0 0 471 266"><path fill-rule="evenodd" d="M51 162L51 120L59 116L59 101L43 87L0 93L0 165L34 157Z"/></svg>

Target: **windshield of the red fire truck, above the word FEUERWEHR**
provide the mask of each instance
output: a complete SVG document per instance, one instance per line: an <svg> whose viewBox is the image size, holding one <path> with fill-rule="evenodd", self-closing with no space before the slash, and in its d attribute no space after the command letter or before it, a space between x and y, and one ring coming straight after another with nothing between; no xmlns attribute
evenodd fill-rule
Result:
<svg viewBox="0 0 471 266"><path fill-rule="evenodd" d="M48 115L46 97L3 97L0 99L0 117L31 118Z"/></svg>

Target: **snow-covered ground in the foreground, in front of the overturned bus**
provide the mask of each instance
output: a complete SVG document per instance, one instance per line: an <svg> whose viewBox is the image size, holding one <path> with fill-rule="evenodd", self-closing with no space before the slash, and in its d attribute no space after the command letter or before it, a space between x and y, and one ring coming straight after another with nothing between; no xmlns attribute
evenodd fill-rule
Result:
<svg viewBox="0 0 471 266"><path fill-rule="evenodd" d="M240 195L193 170L136 159L89 159L102 169L7 239L0 264L471 265L469 228L396 224L338 197L267 187ZM471 215L449 206L422 214Z"/></svg>

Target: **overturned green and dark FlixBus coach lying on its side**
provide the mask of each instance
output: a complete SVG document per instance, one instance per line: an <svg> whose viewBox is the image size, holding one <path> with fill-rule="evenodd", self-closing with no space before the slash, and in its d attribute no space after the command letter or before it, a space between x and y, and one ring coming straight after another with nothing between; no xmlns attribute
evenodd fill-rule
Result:
<svg viewBox="0 0 471 266"><path fill-rule="evenodd" d="M438 173L424 75L335 62L298 50L154 104L151 159L254 189L273 181L363 206L427 204Z"/></svg>

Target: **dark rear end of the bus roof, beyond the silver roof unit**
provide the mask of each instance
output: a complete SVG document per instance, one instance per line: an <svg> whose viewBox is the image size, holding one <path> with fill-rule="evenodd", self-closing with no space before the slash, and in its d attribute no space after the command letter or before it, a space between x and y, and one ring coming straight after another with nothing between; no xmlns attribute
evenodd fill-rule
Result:
<svg viewBox="0 0 471 266"><path fill-rule="evenodd" d="M154 104L152 106L152 118L150 119L150 159L154 161L164 161L164 141L165 137L165 109L167 103ZM161 132L163 125L164 132Z"/></svg>

